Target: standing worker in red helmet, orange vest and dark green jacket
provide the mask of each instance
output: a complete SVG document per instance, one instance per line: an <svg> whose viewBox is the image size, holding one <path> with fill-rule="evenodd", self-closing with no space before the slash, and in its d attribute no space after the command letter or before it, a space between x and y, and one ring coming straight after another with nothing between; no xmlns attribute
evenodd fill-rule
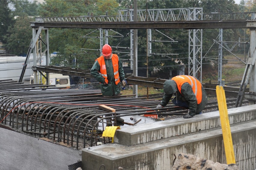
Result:
<svg viewBox="0 0 256 170"><path fill-rule="evenodd" d="M116 54L112 54L112 48L108 44L102 47L102 56L95 60L91 68L91 74L101 84L101 92L104 97L121 96L121 85L126 85L123 72L123 64ZM123 122L120 117L116 121Z"/></svg>

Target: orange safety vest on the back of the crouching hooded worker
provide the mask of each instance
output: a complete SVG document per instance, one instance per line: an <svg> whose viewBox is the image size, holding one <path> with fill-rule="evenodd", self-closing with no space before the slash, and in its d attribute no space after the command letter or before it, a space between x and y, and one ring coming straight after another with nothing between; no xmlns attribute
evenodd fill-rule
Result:
<svg viewBox="0 0 256 170"><path fill-rule="evenodd" d="M172 77L178 86L178 91L181 93L181 86L184 83L189 83L192 87L192 90L197 97L197 104L200 104L202 101L202 84L196 78L192 76L182 75L182 76L175 76Z"/></svg>

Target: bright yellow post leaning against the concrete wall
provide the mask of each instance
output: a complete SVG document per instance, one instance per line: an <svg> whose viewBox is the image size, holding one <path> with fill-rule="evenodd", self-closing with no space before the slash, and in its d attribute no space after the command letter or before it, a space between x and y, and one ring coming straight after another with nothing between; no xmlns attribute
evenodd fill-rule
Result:
<svg viewBox="0 0 256 170"><path fill-rule="evenodd" d="M227 113L226 96L222 86L216 86L216 94L218 100L218 107L221 119L221 129L224 141L225 154L227 158L227 164L236 163L235 154L233 149L232 136L230 131L230 124Z"/></svg>

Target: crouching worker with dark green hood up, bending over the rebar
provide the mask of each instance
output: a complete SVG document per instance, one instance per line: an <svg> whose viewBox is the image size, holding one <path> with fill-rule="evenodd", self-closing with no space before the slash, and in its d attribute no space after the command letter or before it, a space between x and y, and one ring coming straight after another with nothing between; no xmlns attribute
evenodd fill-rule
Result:
<svg viewBox="0 0 256 170"><path fill-rule="evenodd" d="M207 104L206 92L202 84L192 76L181 75L166 80L163 84L163 91L163 99L157 108L166 106L172 95L175 95L172 103L189 109L189 113L183 118L192 118L194 115L201 114Z"/></svg>

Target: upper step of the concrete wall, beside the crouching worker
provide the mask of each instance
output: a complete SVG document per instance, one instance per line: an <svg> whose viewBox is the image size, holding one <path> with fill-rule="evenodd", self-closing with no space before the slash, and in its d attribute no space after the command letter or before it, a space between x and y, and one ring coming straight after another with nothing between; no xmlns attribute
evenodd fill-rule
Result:
<svg viewBox="0 0 256 170"><path fill-rule="evenodd" d="M228 115L230 124L255 120L256 105L228 109ZM121 128L115 133L114 143L136 145L216 127L221 127L218 111L195 115L190 119L176 118Z"/></svg>

